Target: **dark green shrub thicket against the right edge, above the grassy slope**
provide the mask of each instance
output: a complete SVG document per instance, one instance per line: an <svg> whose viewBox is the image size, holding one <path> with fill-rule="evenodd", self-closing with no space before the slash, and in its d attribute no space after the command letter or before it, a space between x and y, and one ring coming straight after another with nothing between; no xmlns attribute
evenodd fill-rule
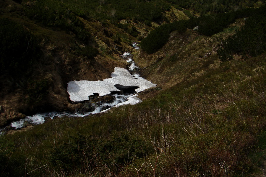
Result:
<svg viewBox="0 0 266 177"><path fill-rule="evenodd" d="M223 40L218 54L222 61L233 59L233 54L243 58L257 56L266 51L266 6L246 19L245 26L235 35Z"/></svg>

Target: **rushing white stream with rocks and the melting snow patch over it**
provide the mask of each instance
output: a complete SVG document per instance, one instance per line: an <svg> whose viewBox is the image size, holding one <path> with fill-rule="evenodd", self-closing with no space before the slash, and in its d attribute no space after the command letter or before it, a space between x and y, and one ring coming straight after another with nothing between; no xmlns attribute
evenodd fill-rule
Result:
<svg viewBox="0 0 266 177"><path fill-rule="evenodd" d="M133 47L136 50L139 49L136 43L133 43ZM63 116L84 117L105 112L112 107L141 102L137 98L137 93L156 85L140 77L139 68L135 65L131 53L125 52L121 58L129 63L128 68L115 67L110 78L103 81L83 80L68 83L69 99L77 107L75 112L38 113L12 122L7 127L2 128L0 132L20 129L30 124L42 124L49 119Z"/></svg>

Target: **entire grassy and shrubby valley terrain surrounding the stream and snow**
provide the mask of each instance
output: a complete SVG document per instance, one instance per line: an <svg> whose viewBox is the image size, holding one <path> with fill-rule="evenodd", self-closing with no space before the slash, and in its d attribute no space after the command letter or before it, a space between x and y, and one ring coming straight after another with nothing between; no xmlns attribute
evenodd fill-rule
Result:
<svg viewBox="0 0 266 177"><path fill-rule="evenodd" d="M140 104L1 135L2 176L263 175L264 2L1 3L1 42L10 42L0 58L2 124L24 112L74 110L67 82L109 77L113 66L126 66L123 51L131 51L142 76L158 85L140 94ZM38 6L45 8L39 13ZM145 16L149 7L157 13ZM141 17L132 14L143 8ZM137 40L153 45L134 51ZM7 50L10 60L2 57Z"/></svg>

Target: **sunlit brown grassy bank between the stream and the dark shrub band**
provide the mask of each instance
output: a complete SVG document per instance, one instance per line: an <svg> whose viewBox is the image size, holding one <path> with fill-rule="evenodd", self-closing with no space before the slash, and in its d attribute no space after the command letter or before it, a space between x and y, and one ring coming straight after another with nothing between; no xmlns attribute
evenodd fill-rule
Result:
<svg viewBox="0 0 266 177"><path fill-rule="evenodd" d="M244 19L238 19L223 32L211 37L199 35L187 30L183 35L173 31L169 42L158 52L148 55L136 53L137 65L144 68L142 74L162 89L190 81L220 66L216 50L220 41L235 34L235 30L244 25Z"/></svg>

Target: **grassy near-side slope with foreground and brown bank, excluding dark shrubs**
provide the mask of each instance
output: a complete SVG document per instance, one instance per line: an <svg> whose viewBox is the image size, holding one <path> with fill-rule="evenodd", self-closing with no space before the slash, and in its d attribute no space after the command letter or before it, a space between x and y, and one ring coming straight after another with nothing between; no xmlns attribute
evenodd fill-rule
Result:
<svg viewBox="0 0 266 177"><path fill-rule="evenodd" d="M136 60L145 68L144 75L159 85L150 93L162 88L154 98L106 114L56 119L2 137L3 174L253 173L262 157L258 150L265 148L266 54L220 63L215 53L218 41L242 23L239 20L212 37L193 31L184 36L173 33L154 55L140 53Z"/></svg>

